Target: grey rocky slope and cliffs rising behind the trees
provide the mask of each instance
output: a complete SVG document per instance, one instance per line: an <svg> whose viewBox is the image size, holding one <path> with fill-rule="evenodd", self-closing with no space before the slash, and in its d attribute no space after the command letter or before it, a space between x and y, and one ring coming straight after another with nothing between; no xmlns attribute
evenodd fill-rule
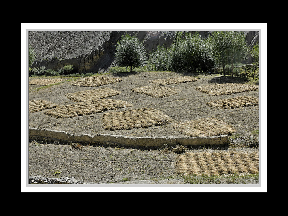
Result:
<svg viewBox="0 0 288 216"><path fill-rule="evenodd" d="M75 73L107 71L115 60L117 41L126 33L137 35L147 53L158 45L171 46L175 37L174 31L29 31L38 59L33 66L58 70L71 64ZM211 34L199 33L203 38ZM259 43L258 31L245 31L245 36L249 45Z"/></svg>

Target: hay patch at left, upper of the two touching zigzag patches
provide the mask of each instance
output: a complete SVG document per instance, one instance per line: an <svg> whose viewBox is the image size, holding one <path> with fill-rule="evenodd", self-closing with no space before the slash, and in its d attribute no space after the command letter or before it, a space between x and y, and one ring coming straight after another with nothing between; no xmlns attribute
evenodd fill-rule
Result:
<svg viewBox="0 0 288 216"><path fill-rule="evenodd" d="M97 99L108 98L120 93L122 92L113 90L111 88L98 88L82 92L67 93L65 96L72 101L83 102L83 101L95 101Z"/></svg>

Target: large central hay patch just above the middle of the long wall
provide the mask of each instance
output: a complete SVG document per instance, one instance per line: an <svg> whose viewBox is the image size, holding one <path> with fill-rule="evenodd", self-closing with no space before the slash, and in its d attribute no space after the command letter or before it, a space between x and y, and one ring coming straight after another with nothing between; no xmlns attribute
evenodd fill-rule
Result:
<svg viewBox="0 0 288 216"><path fill-rule="evenodd" d="M105 113L102 120L105 130L147 128L171 122L171 119L167 115L152 108Z"/></svg>

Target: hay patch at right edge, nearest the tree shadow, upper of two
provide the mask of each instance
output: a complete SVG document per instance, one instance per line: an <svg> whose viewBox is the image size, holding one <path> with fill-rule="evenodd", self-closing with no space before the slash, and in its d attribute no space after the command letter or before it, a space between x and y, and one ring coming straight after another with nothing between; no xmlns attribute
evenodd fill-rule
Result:
<svg viewBox="0 0 288 216"><path fill-rule="evenodd" d="M237 94L240 92L255 91L258 89L259 89L258 86L255 85L240 84L240 83L215 84L210 86L200 86L196 88L196 90L199 90L200 92L204 92L212 96Z"/></svg>

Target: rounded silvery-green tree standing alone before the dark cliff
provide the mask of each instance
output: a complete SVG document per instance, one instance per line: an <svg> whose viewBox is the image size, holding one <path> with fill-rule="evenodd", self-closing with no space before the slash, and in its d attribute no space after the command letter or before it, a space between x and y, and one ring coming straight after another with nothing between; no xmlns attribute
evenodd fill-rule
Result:
<svg viewBox="0 0 288 216"><path fill-rule="evenodd" d="M145 65L145 48L135 35L122 35L117 44L115 52L116 65L130 67L130 72L132 72L132 67Z"/></svg>

